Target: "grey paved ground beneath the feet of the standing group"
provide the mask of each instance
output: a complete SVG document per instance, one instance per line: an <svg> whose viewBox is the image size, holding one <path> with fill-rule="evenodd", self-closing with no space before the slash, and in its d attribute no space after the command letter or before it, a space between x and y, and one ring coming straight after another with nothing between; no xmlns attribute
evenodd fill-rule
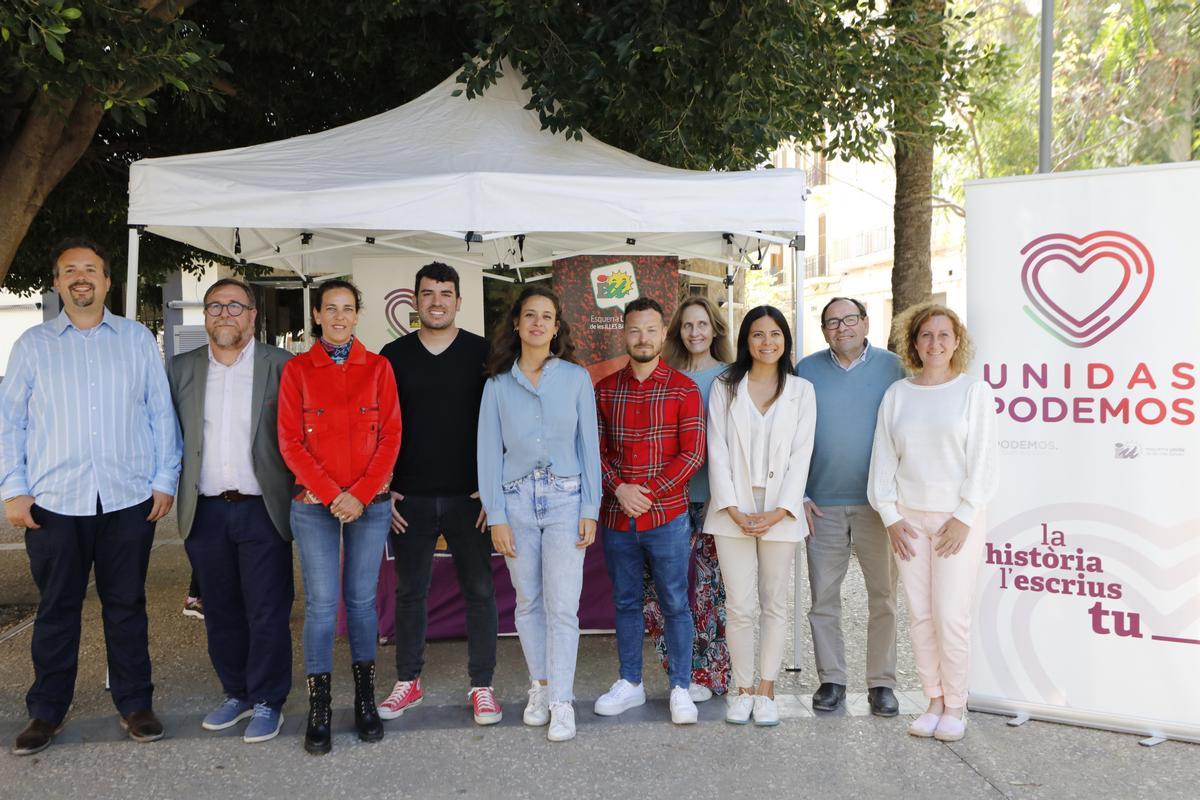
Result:
<svg viewBox="0 0 1200 800"><path fill-rule="evenodd" d="M962 742L943 745L905 735L907 716L865 715L862 697L852 698L847 714L812 716L806 703L816 675L806 634L800 640L803 672L786 674L779 684L786 718L775 729L725 724L719 700L701 705L700 724L673 727L656 669L647 670L647 706L619 718L593 715L590 700L614 678L616 655L612 637L590 636L581 645L576 682L580 735L552 745L544 729L521 724L523 661L517 640L503 638L496 682L505 718L499 726L472 722L466 646L445 642L430 646L425 704L385 723L382 742L359 742L349 733L349 670L342 667L348 654L340 643L335 722L343 733L335 738L334 753L314 758L301 750L300 691L286 708L283 735L244 745L236 732L210 734L199 727L220 699L220 687L206 660L203 624L180 615L188 567L173 518L160 525L158 536L148 595L155 699L167 739L136 745L118 727L103 690L98 603L90 599L66 729L38 756L8 754L25 722L31 667L28 627L19 620L6 624L0 613L0 798L1200 798L1195 745L1146 748L1133 736L1038 722L1009 728L1003 717L984 714L971 716ZM20 541L18 531L0 523L0 612L36 602ZM863 681L865 602L853 567L845 595L854 690ZM300 609L298 602L296 631ZM295 680L302 686L299 636L296 648ZM380 650L383 691L392 678L391 652ZM900 662L901 688L916 688L904 636ZM914 696L905 693L905 710L916 708Z"/></svg>

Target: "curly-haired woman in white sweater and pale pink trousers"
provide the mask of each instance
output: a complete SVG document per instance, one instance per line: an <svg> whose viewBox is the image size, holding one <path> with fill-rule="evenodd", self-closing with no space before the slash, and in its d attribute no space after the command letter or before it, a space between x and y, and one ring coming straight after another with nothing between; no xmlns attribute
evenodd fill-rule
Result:
<svg viewBox="0 0 1200 800"><path fill-rule="evenodd" d="M983 558L983 510L995 491L991 387L968 378L972 347L958 315L936 303L895 320L913 377L880 405L868 499L888 527L908 597L912 650L929 709L914 736L966 733L971 606Z"/></svg>

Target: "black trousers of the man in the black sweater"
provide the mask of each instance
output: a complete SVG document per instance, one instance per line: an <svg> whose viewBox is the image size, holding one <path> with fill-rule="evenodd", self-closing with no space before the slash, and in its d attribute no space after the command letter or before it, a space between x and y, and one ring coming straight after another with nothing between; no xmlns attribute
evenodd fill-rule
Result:
<svg viewBox="0 0 1200 800"><path fill-rule="evenodd" d="M469 497L419 498L396 504L408 522L392 531L396 557L396 676L414 680L425 667L426 601L433 575L433 549L445 537L458 588L467 602L467 672L472 686L491 686L496 672L496 588L492 584L492 540L475 528L480 503Z"/></svg>

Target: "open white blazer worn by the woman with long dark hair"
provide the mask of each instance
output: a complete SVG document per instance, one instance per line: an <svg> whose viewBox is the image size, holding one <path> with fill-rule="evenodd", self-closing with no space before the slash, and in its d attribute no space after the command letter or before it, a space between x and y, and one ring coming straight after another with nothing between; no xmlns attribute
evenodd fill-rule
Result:
<svg viewBox="0 0 1200 800"><path fill-rule="evenodd" d="M737 506L755 513L750 486L750 435L757 414L750 387L743 378L730 404L728 386L718 378L708 397L708 487L710 499L704 533L714 536L745 536L725 509ZM804 488L809 482L809 461L817 425L817 401L812 384L787 377L784 393L775 399L767 459L767 495L763 511L784 509L790 516L772 525L762 537L768 542L799 542L809 535L804 519Z"/></svg>

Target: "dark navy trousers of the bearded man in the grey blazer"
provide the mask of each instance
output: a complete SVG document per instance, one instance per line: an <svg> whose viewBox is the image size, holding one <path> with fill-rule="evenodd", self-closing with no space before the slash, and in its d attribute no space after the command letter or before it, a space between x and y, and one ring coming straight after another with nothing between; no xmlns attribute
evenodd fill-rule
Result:
<svg viewBox="0 0 1200 800"><path fill-rule="evenodd" d="M292 691L292 543L260 498L202 497L185 541L204 597L209 658L228 697L283 705Z"/></svg>

